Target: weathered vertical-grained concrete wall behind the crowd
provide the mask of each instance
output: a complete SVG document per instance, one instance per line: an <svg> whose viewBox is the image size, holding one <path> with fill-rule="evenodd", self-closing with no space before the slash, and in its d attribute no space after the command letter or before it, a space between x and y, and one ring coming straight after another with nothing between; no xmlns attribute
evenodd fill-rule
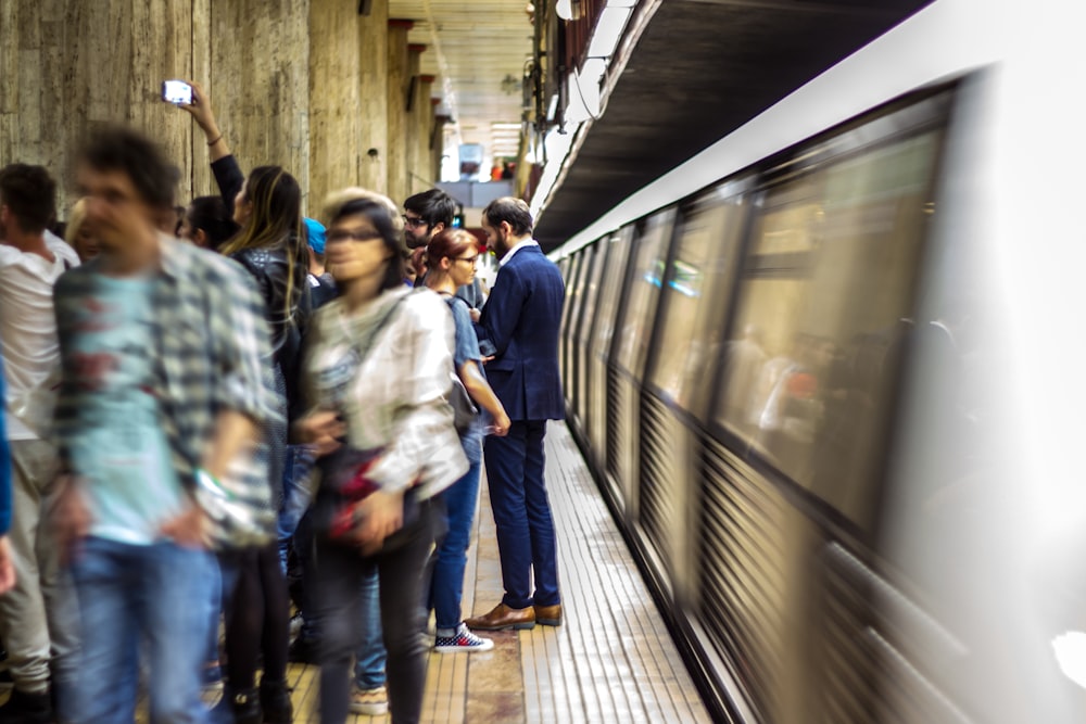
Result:
<svg viewBox="0 0 1086 724"><path fill-rule="evenodd" d="M202 134L160 100L162 80L193 78L242 168L285 166L311 196L307 213L355 183L399 202L409 173L433 172L422 158L406 167L406 119L390 112L397 97L403 112L396 91L409 84L404 62L390 87L390 58L407 60L406 33L395 40L392 52L388 0L366 17L344 0L2 0L0 165L47 166L65 218L80 137L123 122L176 160L180 202L215 193Z"/></svg>

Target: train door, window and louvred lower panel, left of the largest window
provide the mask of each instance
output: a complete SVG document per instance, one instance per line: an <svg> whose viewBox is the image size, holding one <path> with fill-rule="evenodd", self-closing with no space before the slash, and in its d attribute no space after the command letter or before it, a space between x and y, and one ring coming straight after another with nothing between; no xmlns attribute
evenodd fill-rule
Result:
<svg viewBox="0 0 1086 724"><path fill-rule="evenodd" d="M678 601L690 599L696 585L690 533L698 505L700 430L732 296L748 185L721 185L683 208L642 389L639 531L661 559Z"/></svg>

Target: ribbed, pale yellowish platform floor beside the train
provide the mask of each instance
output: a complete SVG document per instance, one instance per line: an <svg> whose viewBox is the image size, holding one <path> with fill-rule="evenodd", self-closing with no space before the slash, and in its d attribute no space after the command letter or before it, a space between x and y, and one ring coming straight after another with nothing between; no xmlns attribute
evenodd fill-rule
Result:
<svg viewBox="0 0 1086 724"><path fill-rule="evenodd" d="M561 626L485 632L494 648L429 655L422 721L709 722L710 717L568 429L551 422L546 479L558 538ZM502 597L494 518L479 496L465 617ZM472 585L470 582L475 582ZM318 669L290 664L294 721L317 722ZM353 719L355 724L386 716Z"/></svg>

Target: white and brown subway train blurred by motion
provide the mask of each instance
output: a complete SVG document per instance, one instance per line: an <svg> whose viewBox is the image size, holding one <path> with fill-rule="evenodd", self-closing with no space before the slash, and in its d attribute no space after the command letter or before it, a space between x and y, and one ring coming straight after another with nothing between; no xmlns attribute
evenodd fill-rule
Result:
<svg viewBox="0 0 1086 724"><path fill-rule="evenodd" d="M1010 4L552 254L568 423L720 721L1086 721L1082 10Z"/></svg>

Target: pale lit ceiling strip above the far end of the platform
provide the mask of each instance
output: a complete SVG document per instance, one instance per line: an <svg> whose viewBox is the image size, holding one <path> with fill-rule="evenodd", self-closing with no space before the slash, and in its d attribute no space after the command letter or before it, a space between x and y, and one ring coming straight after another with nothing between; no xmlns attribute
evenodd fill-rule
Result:
<svg viewBox="0 0 1086 724"><path fill-rule="evenodd" d="M411 20L407 39L427 46L421 73L437 76L439 112L451 116L456 142L512 143L516 155L523 97L521 77L532 54L527 0L390 0L389 17ZM512 79L512 80L510 80ZM512 141L509 140L512 139Z"/></svg>

